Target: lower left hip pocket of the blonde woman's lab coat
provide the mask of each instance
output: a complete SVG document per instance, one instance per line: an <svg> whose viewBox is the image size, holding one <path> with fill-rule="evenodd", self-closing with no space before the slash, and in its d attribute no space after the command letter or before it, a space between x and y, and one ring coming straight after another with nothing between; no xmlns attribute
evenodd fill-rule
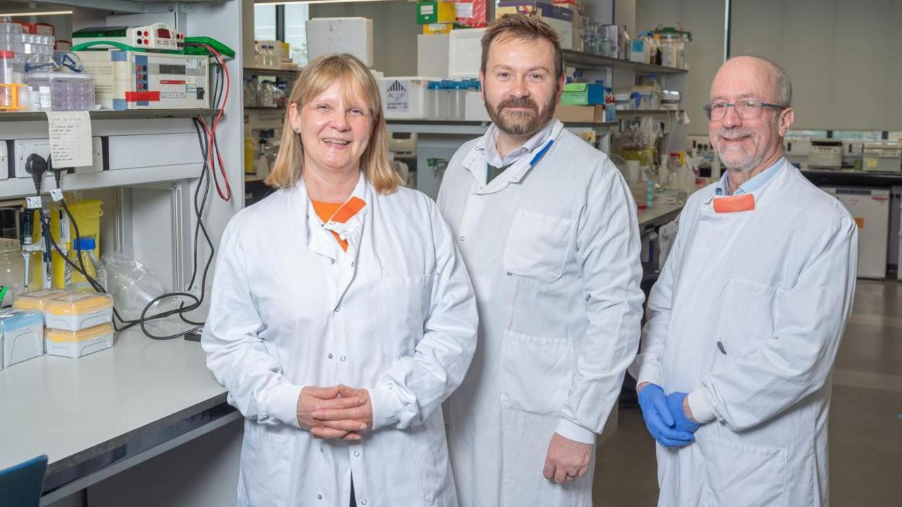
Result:
<svg viewBox="0 0 902 507"><path fill-rule="evenodd" d="M275 428L273 429L275 430ZM253 507L284 507L291 487L293 438L244 422L238 500Z"/></svg>

